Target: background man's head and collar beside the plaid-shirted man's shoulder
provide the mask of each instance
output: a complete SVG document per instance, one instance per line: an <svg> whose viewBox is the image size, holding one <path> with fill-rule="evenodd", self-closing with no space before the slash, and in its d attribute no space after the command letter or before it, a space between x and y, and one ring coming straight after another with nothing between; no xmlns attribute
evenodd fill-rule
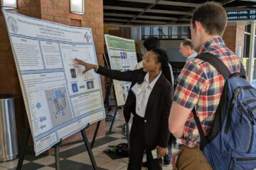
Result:
<svg viewBox="0 0 256 170"><path fill-rule="evenodd" d="M198 53L194 50L193 42L190 39L181 40L179 52L183 57L186 58L186 62L198 55Z"/></svg>

